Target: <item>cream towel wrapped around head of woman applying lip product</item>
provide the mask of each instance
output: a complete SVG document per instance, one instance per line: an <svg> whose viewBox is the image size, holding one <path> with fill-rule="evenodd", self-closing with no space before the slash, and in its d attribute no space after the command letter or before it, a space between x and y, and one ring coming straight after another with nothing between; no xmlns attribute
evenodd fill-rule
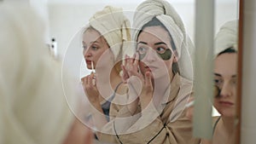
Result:
<svg viewBox="0 0 256 144"><path fill-rule="evenodd" d="M107 40L115 60L123 58L125 54L131 54L128 44L131 40L131 24L121 8L106 6L90 18L89 26L95 28Z"/></svg>

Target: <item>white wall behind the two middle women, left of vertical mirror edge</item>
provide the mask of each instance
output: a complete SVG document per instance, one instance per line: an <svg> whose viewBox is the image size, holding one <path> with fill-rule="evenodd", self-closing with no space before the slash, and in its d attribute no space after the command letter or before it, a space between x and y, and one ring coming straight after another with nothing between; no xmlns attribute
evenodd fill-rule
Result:
<svg viewBox="0 0 256 144"><path fill-rule="evenodd" d="M110 1L108 1L110 2ZM50 37L55 37L58 42L58 51L61 57L64 57L67 47L71 43L74 35L81 31L82 27L85 26L89 18L96 13L96 11L103 9L106 5L110 4L117 7L122 7L125 10L125 15L131 20L133 11L136 9L138 2L133 3L49 3L49 32ZM181 14L186 26L189 27L189 33L193 37L194 33L194 5L193 3L174 3L175 8L179 14ZM77 43L79 40L75 40ZM72 46L74 50L69 50L69 53L82 57L82 46L79 44ZM70 48L70 47L69 47ZM70 55L70 54L68 54ZM88 70L82 66L82 74L77 73L79 71L78 66L75 63L81 63L82 58L68 60L66 63L71 67L71 71L76 77L80 75L85 75ZM82 62L82 64L84 64Z"/></svg>

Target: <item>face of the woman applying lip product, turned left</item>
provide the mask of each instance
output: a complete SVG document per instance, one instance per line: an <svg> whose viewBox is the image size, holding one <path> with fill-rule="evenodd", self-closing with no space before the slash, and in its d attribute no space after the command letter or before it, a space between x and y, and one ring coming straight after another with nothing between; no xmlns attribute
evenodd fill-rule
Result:
<svg viewBox="0 0 256 144"><path fill-rule="evenodd" d="M92 69L91 62L93 62L93 68L95 68L99 58L102 56L105 50L108 49L108 43L99 32L89 29L84 32L83 47L83 55L86 66L88 69Z"/></svg>

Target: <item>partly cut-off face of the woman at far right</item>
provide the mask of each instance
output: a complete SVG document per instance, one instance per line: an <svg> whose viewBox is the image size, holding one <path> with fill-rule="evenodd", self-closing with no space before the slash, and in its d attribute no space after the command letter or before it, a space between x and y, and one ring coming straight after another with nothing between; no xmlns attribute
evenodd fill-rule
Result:
<svg viewBox="0 0 256 144"><path fill-rule="evenodd" d="M214 98L214 107L225 117L236 113L236 53L224 53L215 59L214 82L220 94Z"/></svg>

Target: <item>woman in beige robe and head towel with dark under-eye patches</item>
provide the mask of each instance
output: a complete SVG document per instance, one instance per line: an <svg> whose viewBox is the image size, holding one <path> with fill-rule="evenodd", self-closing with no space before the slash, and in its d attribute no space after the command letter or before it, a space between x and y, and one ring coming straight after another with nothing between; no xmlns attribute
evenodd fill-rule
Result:
<svg viewBox="0 0 256 144"><path fill-rule="evenodd" d="M126 56L124 80L134 100L119 110L113 129L119 143L192 144L185 104L192 93L193 45L183 21L163 0L141 3L133 19L136 55ZM129 116L130 113L130 116ZM130 121L129 121L130 120Z"/></svg>

